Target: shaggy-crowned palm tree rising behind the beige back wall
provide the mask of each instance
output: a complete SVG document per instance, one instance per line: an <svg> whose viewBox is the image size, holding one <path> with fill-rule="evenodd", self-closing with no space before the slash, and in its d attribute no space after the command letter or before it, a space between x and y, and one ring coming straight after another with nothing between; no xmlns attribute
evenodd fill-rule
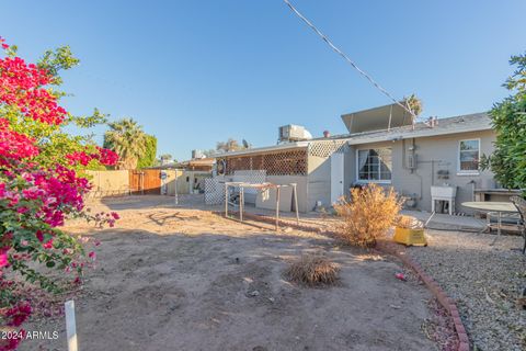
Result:
<svg viewBox="0 0 526 351"><path fill-rule="evenodd" d="M146 152L147 134L133 118L122 118L107 124L110 131L104 134L104 147L117 152L119 169L136 169L137 160Z"/></svg>

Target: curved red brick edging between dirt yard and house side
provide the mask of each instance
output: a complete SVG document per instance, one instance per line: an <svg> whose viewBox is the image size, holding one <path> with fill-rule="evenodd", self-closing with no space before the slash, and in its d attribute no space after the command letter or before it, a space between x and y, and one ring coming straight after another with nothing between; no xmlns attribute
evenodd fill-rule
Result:
<svg viewBox="0 0 526 351"><path fill-rule="evenodd" d="M224 215L222 212L216 212L216 214ZM231 214L238 215L239 213L232 212ZM247 219L255 219L255 220L260 220L268 224L276 223L275 218L272 218L268 216L260 216L251 213L243 213L243 217ZM279 219L278 224L281 226L293 227L293 228L305 230L305 231L331 234L331 231L324 231L321 228L318 228L315 226L298 225L290 220ZM438 285L438 283L431 275L425 273L425 271L422 269L422 267L418 262L415 262L413 259L411 259L403 252L400 252L399 250L397 250L397 246L398 245L391 244L389 241L379 240L377 242L376 249L384 253L388 253L397 257L400 261L402 261L403 264L408 265L416 273L416 275L424 282L424 284L431 291L431 293L436 297L436 299L438 299L439 304L446 309L449 316L451 316L453 322L455 325L455 331L458 338L457 351L469 351L470 349L469 349L468 333L466 332L466 327L464 326L462 320L460 319L460 314L458 313L458 308L455 303L455 299L447 296L447 294L444 292L441 285Z"/></svg>

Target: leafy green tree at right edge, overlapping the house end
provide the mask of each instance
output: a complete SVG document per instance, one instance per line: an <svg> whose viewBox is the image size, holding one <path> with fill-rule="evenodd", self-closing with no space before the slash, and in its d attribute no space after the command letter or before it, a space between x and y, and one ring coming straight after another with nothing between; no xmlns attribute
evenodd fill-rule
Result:
<svg viewBox="0 0 526 351"><path fill-rule="evenodd" d="M490 111L496 132L495 149L483 156L481 167L491 169L504 188L526 189L526 53L512 56L516 70L503 84L511 95Z"/></svg>

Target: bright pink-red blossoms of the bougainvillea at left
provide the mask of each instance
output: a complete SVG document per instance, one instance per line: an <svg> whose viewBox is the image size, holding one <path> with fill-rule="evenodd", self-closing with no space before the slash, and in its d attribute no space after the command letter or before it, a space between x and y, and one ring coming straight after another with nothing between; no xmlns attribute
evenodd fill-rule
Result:
<svg viewBox="0 0 526 351"><path fill-rule="evenodd" d="M10 47L2 37L0 46L3 49ZM81 141L71 141L71 148L56 147L53 141L45 145L39 143L39 133L32 132L34 125L39 128L39 124L47 124L60 129L60 124L68 116L68 112L59 105L60 94L49 87L58 82L57 78L43 66L26 63L20 57L0 57L0 110L5 110L8 113L4 115L9 116L0 116L0 212L5 214L5 223L18 222L12 226L13 229L0 235L2 293L3 288L19 287L19 282L14 281L9 281L12 286L4 284L8 282L5 276L10 273L8 269L15 270L14 263L22 260L38 261L33 250L23 249L30 246L33 248L35 242L45 249L60 247L60 250L41 252L46 257L70 256L68 260L76 260L66 269L76 269L79 274L76 283L81 283L80 274L84 264L94 265L82 262L88 262L83 251L76 249L77 244L61 240L68 234L56 227L62 226L68 217L94 219L94 216L88 216L84 212L83 201L91 185L88 179L79 176L79 171L85 169L92 160L106 166L116 165L118 156L112 150ZM99 214L95 219L101 225L108 223L113 226L118 215ZM27 238L26 230L33 230L35 237ZM96 258L95 252L88 256L93 261ZM0 308L0 319L14 329L23 330L20 326L32 313L31 306L25 303L9 304L11 305ZM0 350L13 350L20 340L7 341L8 349L7 343L0 340Z"/></svg>

